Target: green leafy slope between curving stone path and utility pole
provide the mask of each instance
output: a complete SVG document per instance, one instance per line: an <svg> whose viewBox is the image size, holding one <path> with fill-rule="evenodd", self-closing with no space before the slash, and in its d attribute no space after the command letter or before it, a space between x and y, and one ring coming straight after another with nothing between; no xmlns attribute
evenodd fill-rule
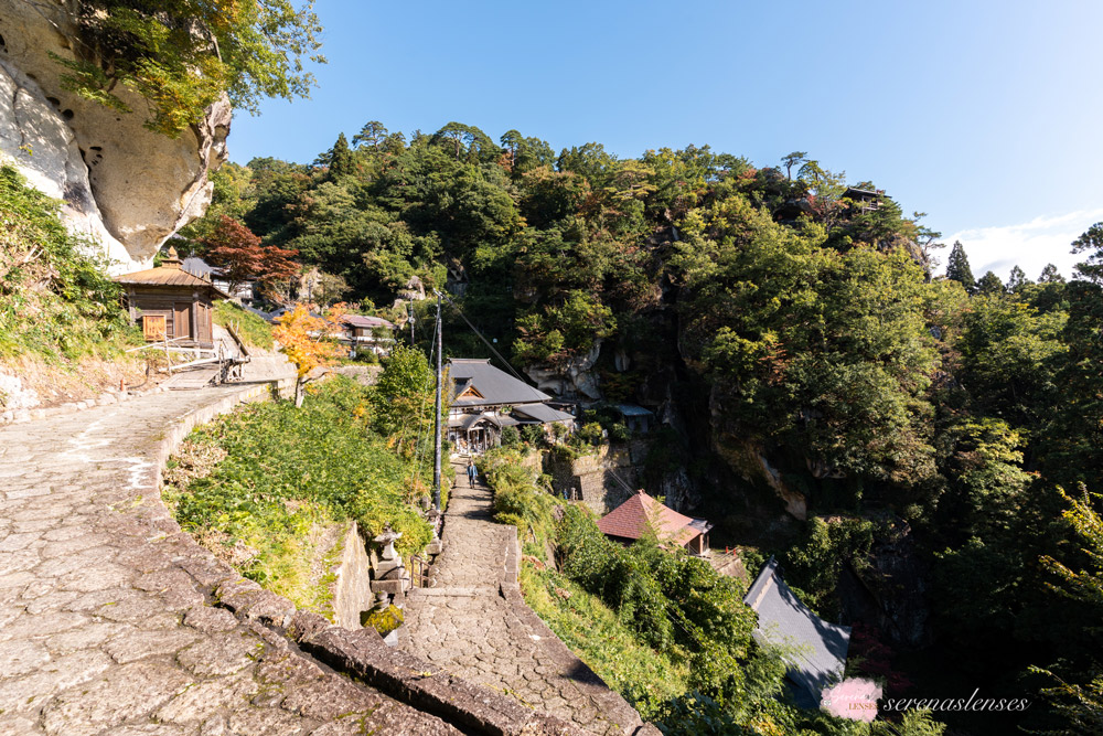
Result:
<svg viewBox="0 0 1103 736"><path fill-rule="evenodd" d="M180 525L245 577L309 610L329 611L312 561L324 529L355 520L375 536L403 533L403 554L431 538L417 504L431 463L396 455L364 409L373 390L335 377L303 406L254 404L196 429L167 473L163 497ZM180 472L191 456L205 467ZM314 577L321 579L315 580Z"/></svg>

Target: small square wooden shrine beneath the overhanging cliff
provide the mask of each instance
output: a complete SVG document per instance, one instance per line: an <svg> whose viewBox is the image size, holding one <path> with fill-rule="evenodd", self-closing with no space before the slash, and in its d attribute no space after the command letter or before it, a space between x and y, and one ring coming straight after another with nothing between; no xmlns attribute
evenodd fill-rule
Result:
<svg viewBox="0 0 1103 736"><path fill-rule="evenodd" d="M130 318L141 324L146 340L169 340L175 345L213 348L212 309L216 299L228 299L211 281L181 268L175 248L157 268L117 276L127 292Z"/></svg>

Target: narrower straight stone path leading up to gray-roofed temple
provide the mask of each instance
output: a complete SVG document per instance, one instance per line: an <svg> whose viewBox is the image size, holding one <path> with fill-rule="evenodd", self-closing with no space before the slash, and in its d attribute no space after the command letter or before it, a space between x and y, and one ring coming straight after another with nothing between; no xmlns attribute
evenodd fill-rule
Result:
<svg viewBox="0 0 1103 736"><path fill-rule="evenodd" d="M505 692L534 708L597 734L632 734L635 713L609 691L517 599L503 595L513 526L492 521L491 493L471 488L456 466L445 514L445 548L430 587L407 600L405 647L470 682ZM657 732L655 732L657 733Z"/></svg>

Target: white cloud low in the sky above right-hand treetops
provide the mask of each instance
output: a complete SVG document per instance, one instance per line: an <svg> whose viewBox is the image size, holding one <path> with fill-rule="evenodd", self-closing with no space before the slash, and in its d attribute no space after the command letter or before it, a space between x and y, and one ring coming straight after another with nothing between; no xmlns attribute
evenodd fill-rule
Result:
<svg viewBox="0 0 1103 736"><path fill-rule="evenodd" d="M1017 265L1027 278L1037 279L1047 264L1053 264L1069 278L1073 266L1084 259L1083 255L1071 253L1072 241L1101 220L1103 209L1078 210L1063 215L1035 217L1020 225L963 230L943 237L942 242L953 246L954 241L961 241L976 278L990 270L1006 280L1011 267ZM941 262L939 271L945 271L950 247L936 255Z"/></svg>

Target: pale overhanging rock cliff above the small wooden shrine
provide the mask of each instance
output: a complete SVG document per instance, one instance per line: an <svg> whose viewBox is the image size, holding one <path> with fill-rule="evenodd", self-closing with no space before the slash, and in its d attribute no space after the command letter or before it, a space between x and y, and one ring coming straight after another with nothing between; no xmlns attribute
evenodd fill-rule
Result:
<svg viewBox="0 0 1103 736"><path fill-rule="evenodd" d="M131 114L63 90L50 53L74 57L67 6L0 0L0 160L63 200L69 227L101 244L114 273L143 268L210 204L207 174L226 159L229 102L173 140L142 127L144 102L127 89L115 92Z"/></svg>

